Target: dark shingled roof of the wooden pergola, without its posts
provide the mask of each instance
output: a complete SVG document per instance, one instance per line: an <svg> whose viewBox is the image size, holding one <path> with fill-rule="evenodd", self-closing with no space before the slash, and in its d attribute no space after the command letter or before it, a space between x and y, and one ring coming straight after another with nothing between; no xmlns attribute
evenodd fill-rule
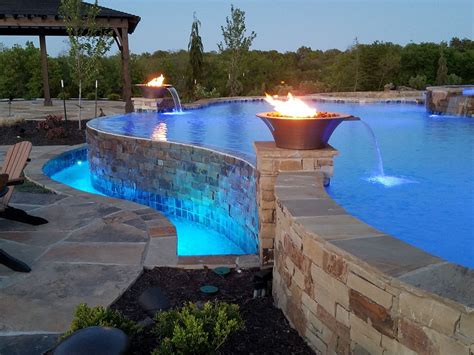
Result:
<svg viewBox="0 0 474 355"><path fill-rule="evenodd" d="M1 0L0 35L67 36L59 15L61 0ZM96 21L104 27L126 28L133 33L140 17L99 6Z"/></svg>

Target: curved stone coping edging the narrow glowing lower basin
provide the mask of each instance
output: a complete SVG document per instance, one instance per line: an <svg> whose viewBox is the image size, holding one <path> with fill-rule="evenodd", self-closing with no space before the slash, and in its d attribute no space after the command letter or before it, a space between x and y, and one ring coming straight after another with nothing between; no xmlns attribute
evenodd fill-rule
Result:
<svg viewBox="0 0 474 355"><path fill-rule="evenodd" d="M128 137L130 138L130 137ZM139 138L137 138L139 139ZM180 143L176 143L180 144ZM182 144L185 145L185 144ZM187 145L192 146L192 145ZM52 159L58 158L62 155L67 155L76 150L87 148L87 144L79 144L75 146L59 146L50 147L50 149L40 153L37 157L26 166L24 173L25 177L34 182L35 184L44 187L58 195L66 195L77 198L87 198L89 201L104 203L115 206L119 209L126 211L144 211L141 213L146 220L147 224L147 235L149 238L148 246L145 249L142 266L147 269L152 269L158 266L172 266L172 267L183 267L189 269L200 269L204 267L217 267L217 266L228 266L233 268L253 268L259 266L258 256L254 254L242 254L242 255L197 255L197 256L176 256L172 255L176 252L176 245L173 248L170 243L166 243L165 238L174 237L173 243L176 242L176 233L170 235L166 232L166 235L161 235L158 231L156 234L155 224L159 220L161 229L168 231L168 226L173 226L161 212L151 209L148 206L144 206L132 201L123 199L101 196L91 194L85 191L77 190L68 185L64 185L58 181L51 179L47 176L43 168ZM200 149L206 149L199 147ZM207 149L209 151L217 152L221 155L233 157L229 154ZM233 157L234 158L234 157ZM240 159L240 158L236 158ZM249 163L249 165L251 165ZM146 213L145 213L146 212ZM156 218L150 217L150 214L156 215ZM174 226L173 226L174 227ZM160 229L160 230L161 230ZM165 237L165 238L164 238Z"/></svg>

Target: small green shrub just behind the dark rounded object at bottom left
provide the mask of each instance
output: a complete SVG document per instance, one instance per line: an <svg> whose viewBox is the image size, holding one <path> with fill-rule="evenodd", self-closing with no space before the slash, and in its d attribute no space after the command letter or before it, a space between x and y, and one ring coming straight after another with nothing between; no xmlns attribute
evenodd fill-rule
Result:
<svg viewBox="0 0 474 355"><path fill-rule="evenodd" d="M120 311L102 306L89 307L87 304L81 303L74 312L71 328L59 340L63 340L79 329L92 326L118 328L129 336L133 336L141 331L141 327L137 323L125 317Z"/></svg>

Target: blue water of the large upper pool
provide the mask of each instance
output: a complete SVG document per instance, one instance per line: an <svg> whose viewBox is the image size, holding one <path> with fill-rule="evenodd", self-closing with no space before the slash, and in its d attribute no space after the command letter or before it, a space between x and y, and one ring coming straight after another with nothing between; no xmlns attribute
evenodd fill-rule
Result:
<svg viewBox="0 0 474 355"><path fill-rule="evenodd" d="M345 122L330 144L339 150L329 194L346 210L409 244L474 267L474 120L428 115L411 104L314 103L361 117L371 135ZM213 147L255 161L253 142L271 140L255 113L264 102L212 105L181 115L132 114L94 120L100 130Z"/></svg>

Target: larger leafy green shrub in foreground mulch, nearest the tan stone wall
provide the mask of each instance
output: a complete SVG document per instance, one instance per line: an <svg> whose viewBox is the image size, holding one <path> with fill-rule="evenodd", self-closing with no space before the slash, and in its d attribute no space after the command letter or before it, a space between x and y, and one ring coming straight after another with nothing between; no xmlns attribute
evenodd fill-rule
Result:
<svg viewBox="0 0 474 355"><path fill-rule="evenodd" d="M152 355L212 354L231 333L244 328L239 306L225 302L207 302L202 308L187 303L156 314L155 322L160 346Z"/></svg>

